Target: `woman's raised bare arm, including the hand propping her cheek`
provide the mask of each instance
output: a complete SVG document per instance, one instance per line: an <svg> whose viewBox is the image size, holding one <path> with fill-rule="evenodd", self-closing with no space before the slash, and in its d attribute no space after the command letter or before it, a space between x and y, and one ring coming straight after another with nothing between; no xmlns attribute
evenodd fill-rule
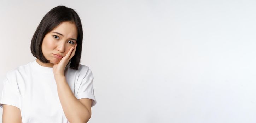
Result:
<svg viewBox="0 0 256 123"><path fill-rule="evenodd" d="M65 67L71 58L75 55L77 43L71 47L68 53L60 60L59 63L53 65L54 78L57 85L62 109L70 123L87 123L91 118L91 103L89 99L78 100L72 93L64 76Z"/></svg>

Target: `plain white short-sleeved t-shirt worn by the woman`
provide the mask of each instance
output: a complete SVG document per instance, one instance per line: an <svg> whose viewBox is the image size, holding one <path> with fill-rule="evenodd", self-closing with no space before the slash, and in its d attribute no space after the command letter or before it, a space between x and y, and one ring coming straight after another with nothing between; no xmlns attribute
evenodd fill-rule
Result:
<svg viewBox="0 0 256 123"><path fill-rule="evenodd" d="M79 65L78 70L68 68L67 83L77 99L92 99L93 74L88 66ZM16 106L21 110L23 123L69 123L60 104L57 85L51 67L39 65L36 60L7 72L3 81L2 104Z"/></svg>

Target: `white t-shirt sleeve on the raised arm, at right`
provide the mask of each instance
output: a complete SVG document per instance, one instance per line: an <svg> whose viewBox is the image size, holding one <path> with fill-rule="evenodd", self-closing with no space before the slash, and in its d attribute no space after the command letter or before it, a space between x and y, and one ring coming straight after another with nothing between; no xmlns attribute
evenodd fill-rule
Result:
<svg viewBox="0 0 256 123"><path fill-rule="evenodd" d="M93 74L90 69L88 69L85 77L82 79L82 82L78 88L78 92L76 95L77 99L88 98L92 99L92 106L96 105L97 101L94 95L93 89Z"/></svg>

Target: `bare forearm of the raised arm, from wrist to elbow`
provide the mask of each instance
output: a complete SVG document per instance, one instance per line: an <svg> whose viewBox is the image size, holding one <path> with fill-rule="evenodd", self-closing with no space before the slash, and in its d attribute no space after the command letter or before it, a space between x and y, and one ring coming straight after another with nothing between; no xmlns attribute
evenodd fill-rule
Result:
<svg viewBox="0 0 256 123"><path fill-rule="evenodd" d="M65 76L55 76L58 96L70 123L87 123L89 111L72 93Z"/></svg>

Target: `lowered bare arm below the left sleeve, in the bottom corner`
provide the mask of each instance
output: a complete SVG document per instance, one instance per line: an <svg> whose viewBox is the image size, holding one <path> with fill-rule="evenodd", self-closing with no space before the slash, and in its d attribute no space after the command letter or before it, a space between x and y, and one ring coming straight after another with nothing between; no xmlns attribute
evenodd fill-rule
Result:
<svg viewBox="0 0 256 123"><path fill-rule="evenodd" d="M19 108L3 104L3 123L22 123L21 111Z"/></svg>

